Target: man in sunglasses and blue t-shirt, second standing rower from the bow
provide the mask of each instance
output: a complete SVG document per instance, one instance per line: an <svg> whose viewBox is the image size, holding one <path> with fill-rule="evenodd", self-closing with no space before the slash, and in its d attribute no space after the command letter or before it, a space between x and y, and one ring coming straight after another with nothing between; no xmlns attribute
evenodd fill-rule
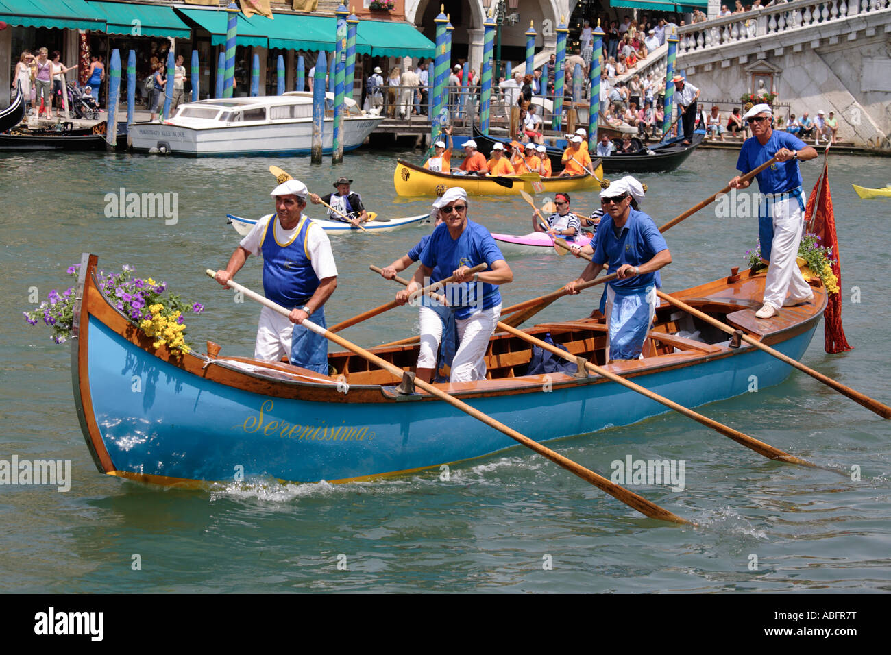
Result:
<svg viewBox="0 0 891 655"><path fill-rule="evenodd" d="M446 289L446 299L454 312L458 332L458 349L452 360L450 382L469 382L486 378L486 348L501 316L501 293L498 285L513 280L511 266L504 260L492 234L468 215L467 192L460 186L448 189L435 203L443 217L421 251L421 264L408 287L396 293L402 304L424 283L437 282L454 275L456 284ZM488 270L469 275L473 266L486 263ZM439 277L434 271L439 270ZM426 302L426 301L425 301ZM430 381L437 364L437 349L443 327L439 316L421 307L421 347L418 353L417 376Z"/></svg>

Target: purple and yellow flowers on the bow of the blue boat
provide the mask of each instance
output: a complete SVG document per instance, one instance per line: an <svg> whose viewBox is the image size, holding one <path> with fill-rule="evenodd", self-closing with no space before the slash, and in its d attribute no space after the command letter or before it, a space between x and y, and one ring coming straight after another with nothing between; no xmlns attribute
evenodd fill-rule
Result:
<svg viewBox="0 0 891 655"><path fill-rule="evenodd" d="M79 267L79 264L69 266L68 274L77 275ZM133 266L124 265L119 274L99 271L99 289L119 312L155 339L152 344L155 348L167 345L171 350L189 352L191 348L185 342L184 315L188 312L200 314L204 306L199 302L186 302L175 293L170 293L166 282L155 282L151 277L135 277L134 270ZM71 334L74 302L73 289L62 293L53 289L39 306L22 314L31 325L37 325L43 319L46 325L53 328L53 341L64 343Z"/></svg>

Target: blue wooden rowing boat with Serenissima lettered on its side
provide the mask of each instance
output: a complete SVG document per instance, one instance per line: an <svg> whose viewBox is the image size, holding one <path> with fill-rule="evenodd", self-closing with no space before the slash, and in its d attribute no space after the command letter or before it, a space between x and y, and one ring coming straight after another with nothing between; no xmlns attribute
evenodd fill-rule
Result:
<svg viewBox="0 0 891 655"><path fill-rule="evenodd" d="M289 364L208 353L181 355L153 339L110 305L84 255L75 307L72 381L78 417L99 471L173 486L250 477L345 482L455 463L514 446L511 438L451 405L401 391L400 380L348 352L331 352L331 375ZM689 305L799 358L826 304L814 300L755 317L764 274L750 272L674 294ZM683 336L699 332L700 338ZM603 364L601 319L544 323L528 329L574 355ZM787 364L726 336L673 307L657 310L645 358L609 364L647 389L687 406L778 384ZM371 351L410 370L416 345ZM530 346L510 334L493 337L491 379L443 385L449 393L537 441L627 425L666 408L599 376L527 375ZM139 381L139 392L135 380ZM545 421L560 407L560 422Z"/></svg>

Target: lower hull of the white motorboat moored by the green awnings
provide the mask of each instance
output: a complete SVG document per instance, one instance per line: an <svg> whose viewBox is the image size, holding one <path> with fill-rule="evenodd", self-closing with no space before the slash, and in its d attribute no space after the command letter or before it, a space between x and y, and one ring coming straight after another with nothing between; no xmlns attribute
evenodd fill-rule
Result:
<svg viewBox="0 0 891 655"><path fill-rule="evenodd" d="M345 118L344 151L358 148L378 126L380 117ZM326 119L322 149L331 153L333 120ZM307 155L313 146L312 119L231 127L184 127L167 123L134 123L130 126L131 147L151 151L162 147L171 154L189 157Z"/></svg>

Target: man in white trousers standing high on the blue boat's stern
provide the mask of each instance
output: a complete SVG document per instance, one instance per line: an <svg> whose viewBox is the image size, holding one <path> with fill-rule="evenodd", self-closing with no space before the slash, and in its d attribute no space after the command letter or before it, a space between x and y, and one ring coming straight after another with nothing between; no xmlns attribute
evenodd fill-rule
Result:
<svg viewBox="0 0 891 655"><path fill-rule="evenodd" d="M755 315L770 318L781 307L813 299L813 291L796 263L805 221L805 193L801 190L798 161L813 160L817 151L797 136L773 129L770 105L756 104L743 119L748 121L752 136L742 144L736 168L745 174L774 156L782 162L756 175L758 191L764 194L758 206L761 257L770 262L770 267L764 282L764 305ZM746 189L749 184L751 180L740 182L740 176L730 181L732 189Z"/></svg>

